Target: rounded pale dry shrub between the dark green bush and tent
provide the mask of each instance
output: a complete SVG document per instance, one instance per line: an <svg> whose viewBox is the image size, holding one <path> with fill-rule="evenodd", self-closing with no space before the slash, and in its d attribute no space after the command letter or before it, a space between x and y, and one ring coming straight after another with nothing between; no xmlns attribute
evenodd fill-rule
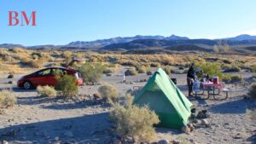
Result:
<svg viewBox="0 0 256 144"><path fill-rule="evenodd" d="M102 85L98 89L99 93L102 95L102 98L106 101L113 103L118 100L119 98L119 92L118 89L116 89L111 84Z"/></svg>

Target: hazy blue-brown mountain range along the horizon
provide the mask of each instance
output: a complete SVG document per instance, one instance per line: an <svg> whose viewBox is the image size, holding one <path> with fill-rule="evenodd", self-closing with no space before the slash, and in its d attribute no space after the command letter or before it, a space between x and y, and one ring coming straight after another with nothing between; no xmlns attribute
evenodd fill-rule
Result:
<svg viewBox="0 0 256 144"><path fill-rule="evenodd" d="M0 44L0 48L23 47L27 49L85 49L100 51L128 51L128 53L141 53L150 49L152 51L213 51L214 45L220 41L230 45L230 49L238 53L256 52L256 36L242 34L236 37L219 39L189 39L189 37L179 37L172 35L163 36L141 36L135 37L113 37L95 41L76 41L67 45L38 45L26 47L20 44ZM129 52L130 51L130 52Z"/></svg>

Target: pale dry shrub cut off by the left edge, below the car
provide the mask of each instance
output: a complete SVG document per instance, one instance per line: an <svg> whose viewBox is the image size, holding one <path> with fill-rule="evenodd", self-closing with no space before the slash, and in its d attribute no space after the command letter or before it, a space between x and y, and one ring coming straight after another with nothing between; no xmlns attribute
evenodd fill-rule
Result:
<svg viewBox="0 0 256 144"><path fill-rule="evenodd" d="M0 108L7 108L15 106L17 96L14 92L9 90L0 91Z"/></svg>

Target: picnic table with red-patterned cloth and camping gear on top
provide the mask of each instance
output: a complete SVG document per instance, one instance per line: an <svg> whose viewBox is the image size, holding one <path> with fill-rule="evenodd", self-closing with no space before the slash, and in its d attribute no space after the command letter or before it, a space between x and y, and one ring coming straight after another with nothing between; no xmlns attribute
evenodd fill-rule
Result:
<svg viewBox="0 0 256 144"><path fill-rule="evenodd" d="M200 84L199 86L198 83ZM205 91L207 91L207 98L205 99L209 99L210 95L212 95L215 100L225 100L228 98L229 89L224 88L224 83L214 84L212 82L195 82L194 84L195 98L201 99L198 95L204 95ZM221 91L225 93L225 96L222 99L220 98Z"/></svg>

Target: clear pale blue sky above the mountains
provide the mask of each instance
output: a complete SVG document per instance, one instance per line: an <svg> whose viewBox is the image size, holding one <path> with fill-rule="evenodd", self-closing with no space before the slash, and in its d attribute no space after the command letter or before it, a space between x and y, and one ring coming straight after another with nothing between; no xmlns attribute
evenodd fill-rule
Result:
<svg viewBox="0 0 256 144"><path fill-rule="evenodd" d="M256 35L255 0L5 0L0 43L67 44L135 35ZM38 26L8 26L8 11L37 11Z"/></svg>

